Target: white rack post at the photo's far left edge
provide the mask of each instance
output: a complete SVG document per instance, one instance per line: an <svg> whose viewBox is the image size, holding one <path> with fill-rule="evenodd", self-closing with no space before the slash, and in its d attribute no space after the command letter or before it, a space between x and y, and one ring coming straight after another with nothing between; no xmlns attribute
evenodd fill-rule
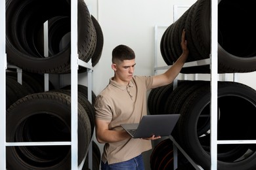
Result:
<svg viewBox="0 0 256 170"><path fill-rule="evenodd" d="M1 105L1 118L0 118L0 169L6 169L6 131L5 131L5 124L6 124L6 108L5 108L5 95L6 95L6 90L5 90L5 70L7 68L7 57L5 53L5 1L2 0L0 3L0 11L1 11L1 24L0 24L0 78L1 78L1 83L0 83L0 95L2 96L0 99L0 105Z"/></svg>

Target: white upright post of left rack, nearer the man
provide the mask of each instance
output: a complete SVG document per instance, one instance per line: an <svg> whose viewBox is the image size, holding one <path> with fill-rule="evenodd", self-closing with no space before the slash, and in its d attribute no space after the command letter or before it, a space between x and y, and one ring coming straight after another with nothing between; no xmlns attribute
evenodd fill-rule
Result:
<svg viewBox="0 0 256 170"><path fill-rule="evenodd" d="M71 169L77 169L77 0L71 1Z"/></svg>

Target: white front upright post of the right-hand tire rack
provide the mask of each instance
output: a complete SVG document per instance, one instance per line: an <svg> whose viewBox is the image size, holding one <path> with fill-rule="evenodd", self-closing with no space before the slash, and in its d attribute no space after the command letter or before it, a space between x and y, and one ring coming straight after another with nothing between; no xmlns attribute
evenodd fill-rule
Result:
<svg viewBox="0 0 256 170"><path fill-rule="evenodd" d="M218 0L211 0L211 170L217 169Z"/></svg>

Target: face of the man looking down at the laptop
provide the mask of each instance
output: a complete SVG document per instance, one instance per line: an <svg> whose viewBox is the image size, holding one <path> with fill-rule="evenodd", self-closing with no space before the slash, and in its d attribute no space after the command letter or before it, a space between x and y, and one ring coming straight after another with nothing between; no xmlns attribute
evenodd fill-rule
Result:
<svg viewBox="0 0 256 170"><path fill-rule="evenodd" d="M113 63L112 69L115 71L116 81L122 84L129 83L133 78L135 64L135 59L127 59L120 63Z"/></svg>

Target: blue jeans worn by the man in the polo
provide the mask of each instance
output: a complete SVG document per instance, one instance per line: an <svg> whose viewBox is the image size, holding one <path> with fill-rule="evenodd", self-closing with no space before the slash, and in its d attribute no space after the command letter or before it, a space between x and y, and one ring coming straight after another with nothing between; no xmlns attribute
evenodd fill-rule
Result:
<svg viewBox="0 0 256 170"><path fill-rule="evenodd" d="M132 158L131 160L121 161L119 163L112 163L108 165L108 161L104 163L101 161L102 170L144 170L144 162L142 155Z"/></svg>

